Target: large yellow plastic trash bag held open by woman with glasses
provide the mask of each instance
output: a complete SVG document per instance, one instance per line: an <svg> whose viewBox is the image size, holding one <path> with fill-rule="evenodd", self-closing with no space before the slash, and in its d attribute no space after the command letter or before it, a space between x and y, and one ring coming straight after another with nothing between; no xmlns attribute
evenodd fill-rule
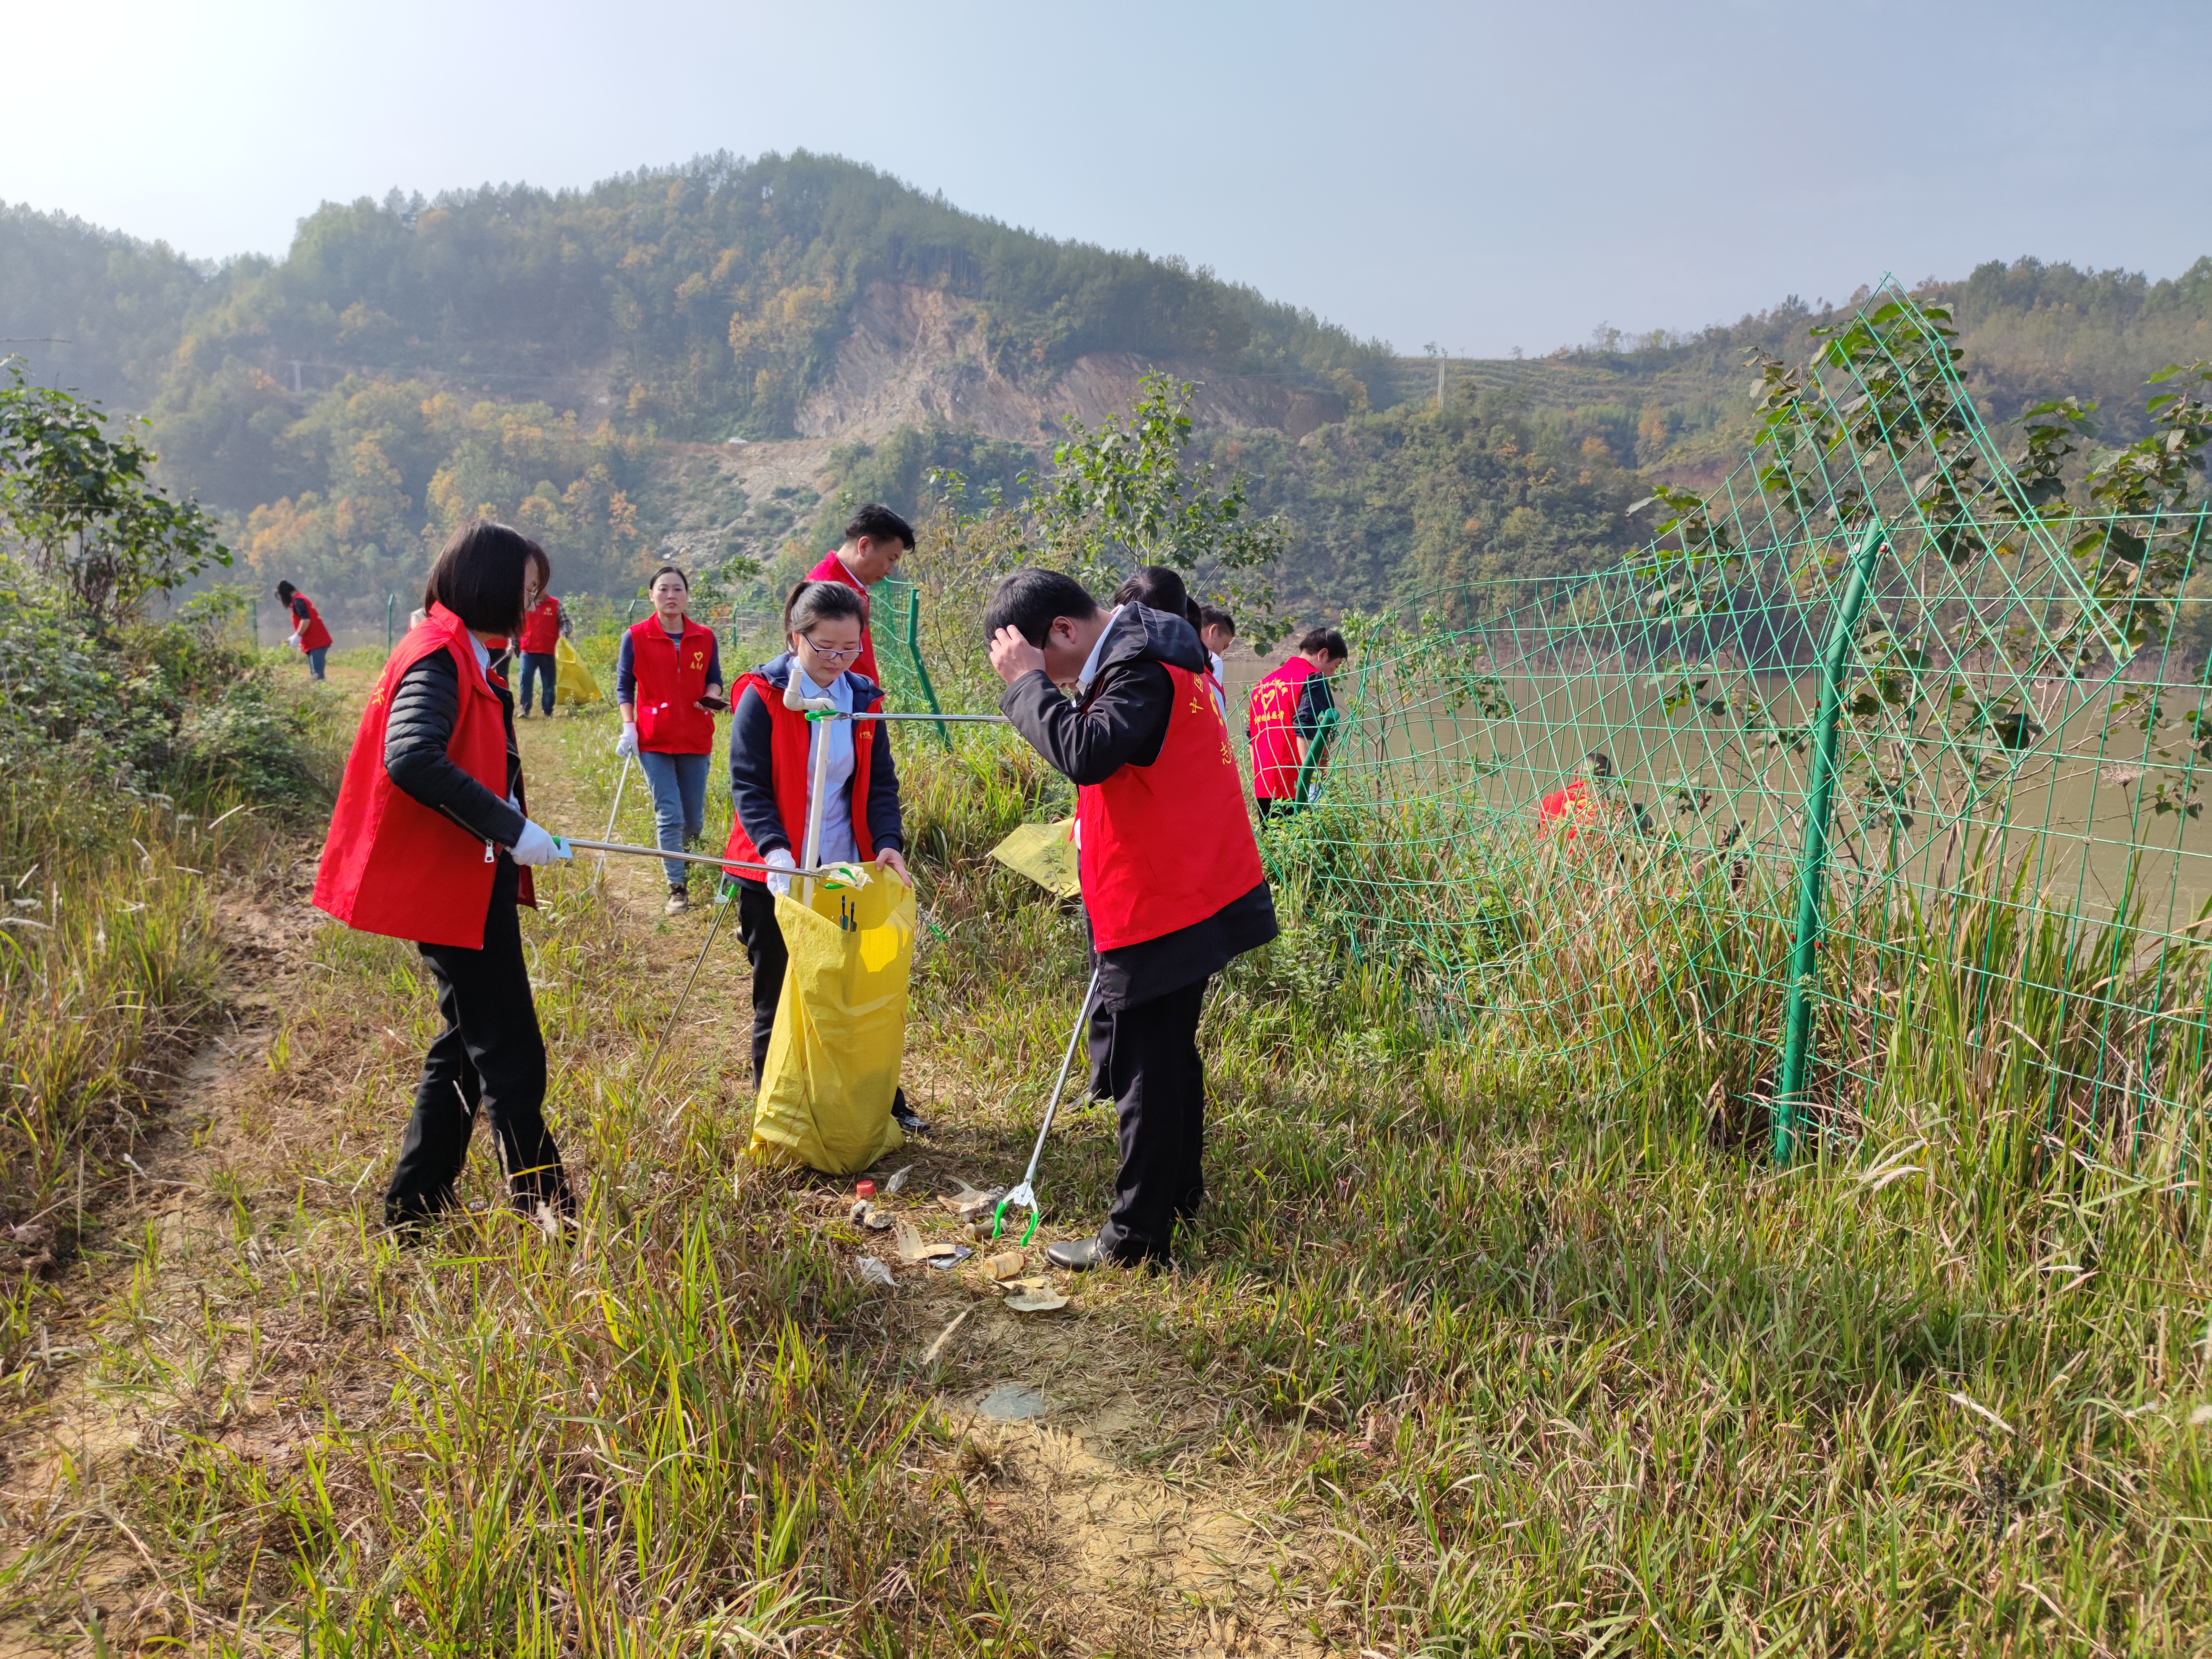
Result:
<svg viewBox="0 0 2212 1659"><path fill-rule="evenodd" d="M805 883L776 900L790 969L768 1040L750 1155L825 1175L865 1170L905 1144L891 1095L907 1053L914 889L878 865L860 887Z"/></svg>

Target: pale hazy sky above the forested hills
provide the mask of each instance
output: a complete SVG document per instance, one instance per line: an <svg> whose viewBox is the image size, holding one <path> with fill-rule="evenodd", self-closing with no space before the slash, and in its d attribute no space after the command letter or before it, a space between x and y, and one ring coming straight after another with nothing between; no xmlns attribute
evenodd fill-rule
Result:
<svg viewBox="0 0 2212 1659"><path fill-rule="evenodd" d="M2212 252L2201 0L9 4L0 199L190 254L323 199L832 150L1400 352Z"/></svg>

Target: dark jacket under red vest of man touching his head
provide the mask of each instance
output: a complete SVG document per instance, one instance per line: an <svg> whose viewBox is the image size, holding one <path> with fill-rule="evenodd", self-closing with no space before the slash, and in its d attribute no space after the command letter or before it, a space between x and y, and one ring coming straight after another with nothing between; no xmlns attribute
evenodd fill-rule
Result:
<svg viewBox="0 0 2212 1659"><path fill-rule="evenodd" d="M1124 765L1150 765L1168 741L1175 681L1161 664L1192 675L1210 668L1197 628L1166 611L1126 604L1106 624L1099 670L1082 701L1071 703L1051 679L1033 672L1013 681L998 708L1073 783L1104 783ZM1263 880L1203 922L1099 951L1099 1002L1130 1009L1181 991L1279 931L1274 896Z"/></svg>

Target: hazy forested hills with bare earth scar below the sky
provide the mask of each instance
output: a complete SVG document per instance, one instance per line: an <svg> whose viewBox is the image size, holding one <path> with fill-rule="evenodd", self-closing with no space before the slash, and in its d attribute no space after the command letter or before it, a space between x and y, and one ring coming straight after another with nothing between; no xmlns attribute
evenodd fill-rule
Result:
<svg viewBox="0 0 2212 1659"><path fill-rule="evenodd" d="M2077 394L2132 438L2143 378L2212 358L2212 259L2168 281L1989 263L1916 292L1953 305L1997 427ZM626 597L664 557L790 562L847 495L925 507L931 467L1013 487L1062 416L1126 407L1146 367L1201 383L1201 447L1292 522L1281 586L1305 615L1593 568L1637 542L1624 509L1652 478L1741 458L1745 352L1801 356L1843 310L1394 358L1179 259L803 153L325 206L285 259L223 265L0 206L0 352L146 411L254 573L356 626L480 511L544 540L571 593Z"/></svg>

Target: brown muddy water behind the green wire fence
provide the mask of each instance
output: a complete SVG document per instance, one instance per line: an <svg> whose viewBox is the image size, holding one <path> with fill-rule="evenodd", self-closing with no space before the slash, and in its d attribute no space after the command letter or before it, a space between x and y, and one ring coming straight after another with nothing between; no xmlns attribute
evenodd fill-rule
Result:
<svg viewBox="0 0 2212 1659"><path fill-rule="evenodd" d="M1243 668L1230 675L1239 732L1245 688L1261 672ZM1743 679L1714 679L1708 695ZM1728 847L1770 869L1794 867L1809 750L1745 741L1730 730L1730 714L1668 710L1666 690L1648 675L1517 675L1502 681L1506 719L1442 699L1369 712L1338 743L1327 792L1334 801L1458 799L1489 823L1513 823L1533 818L1544 794L1590 776L1584 757L1597 752L1615 768L1604 792L1641 810L1648 834L1688 854ZM1818 677L1754 677L1752 695L1776 726L1809 728ZM2024 872L2028 891L2081 914L2115 914L2130 867L2150 929L2179 929L2203 914L2212 905L2212 821L2185 807L2212 796L2203 781L2212 761L2192 748L2194 719L2212 737L2205 688L2046 681L2037 717L2046 730L2026 750L1982 750L1980 781L1966 779L1958 745L1931 737L1927 717L1918 732L1893 730L1871 743L1847 721L1834 816L1838 889L1871 891L1891 872L1920 894L1955 887L1962 865L1986 849L2006 874ZM1896 814L1871 790L1869 761L1891 783L1905 779Z"/></svg>

